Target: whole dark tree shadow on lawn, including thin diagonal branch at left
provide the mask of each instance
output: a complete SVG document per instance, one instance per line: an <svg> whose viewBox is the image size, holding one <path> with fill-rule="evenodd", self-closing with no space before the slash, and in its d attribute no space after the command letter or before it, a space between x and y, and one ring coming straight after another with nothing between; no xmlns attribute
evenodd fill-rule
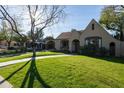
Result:
<svg viewBox="0 0 124 93"><path fill-rule="evenodd" d="M26 62L23 66L21 66L19 69L17 69L16 71L14 71L13 73L11 73L7 78L5 78L3 81L0 81L0 84L4 83L6 80L9 80L13 75L15 75L18 71L20 71L21 69L23 69L29 62L30 63L30 67L23 79L23 82L20 86L20 88L33 88L33 84L34 81L37 79L38 82L41 84L42 87L44 88L50 88L49 85L47 85L45 83L45 81L41 78L41 75L39 74L37 67L36 67L36 60L35 60L35 55L33 55L32 59L29 60L28 62ZM28 83L28 84L27 84ZM27 86L26 86L27 85Z"/></svg>

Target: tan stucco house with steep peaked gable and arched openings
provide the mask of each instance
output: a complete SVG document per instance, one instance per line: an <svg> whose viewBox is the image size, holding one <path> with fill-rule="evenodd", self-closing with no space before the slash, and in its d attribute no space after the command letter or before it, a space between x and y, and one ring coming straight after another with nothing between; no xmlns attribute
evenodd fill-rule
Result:
<svg viewBox="0 0 124 93"><path fill-rule="evenodd" d="M110 55L124 56L124 42L113 38L94 19L82 31L72 30L61 33L54 43L58 51L78 52L81 46L93 44L96 47L105 47L110 50Z"/></svg>

